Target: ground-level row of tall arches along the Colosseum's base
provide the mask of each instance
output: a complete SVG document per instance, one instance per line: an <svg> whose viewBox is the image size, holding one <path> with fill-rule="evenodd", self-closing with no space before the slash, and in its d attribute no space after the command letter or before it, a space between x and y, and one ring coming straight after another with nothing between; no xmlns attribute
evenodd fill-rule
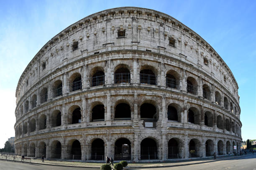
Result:
<svg viewBox="0 0 256 170"><path fill-rule="evenodd" d="M216 142L216 143L215 143ZM188 154L188 158L193 157L207 157L217 155L227 155L239 152L235 150L234 146L239 146L239 143L233 141L232 145L230 141L223 140L213 141L207 139L205 143L200 142L197 138L192 138L187 143L187 153L185 151L185 143L179 138L171 138L166 143L166 159L177 159L186 157L184 154ZM216 145L216 146L215 146ZM133 160L134 155L132 148L134 145L127 138L118 138L113 145L114 160ZM23 148L22 148L23 147ZM49 147L49 148L48 148ZM36 149L37 148L37 149ZM47 149L48 148L48 149ZM45 142L35 143L31 142L29 146L24 143L18 148L18 154L29 157L41 157L44 155L46 158L51 159L72 159L72 160L104 160L106 155L106 143L101 138L95 138L90 145L85 149L86 157L82 157L82 144L77 139L72 139L67 145L63 145L59 140L54 140L46 146ZM238 148L238 147L237 147ZM139 143L140 160L154 160L162 159L160 144L155 138L144 138ZM37 153L36 153L37 152ZM49 153L47 153L49 152ZM159 153L160 152L160 153ZM160 154L160 155L159 155Z"/></svg>

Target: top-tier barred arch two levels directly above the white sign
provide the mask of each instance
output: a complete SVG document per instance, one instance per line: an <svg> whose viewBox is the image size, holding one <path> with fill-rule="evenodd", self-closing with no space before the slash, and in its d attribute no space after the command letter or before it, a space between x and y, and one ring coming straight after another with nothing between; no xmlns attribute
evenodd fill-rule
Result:
<svg viewBox="0 0 256 170"><path fill-rule="evenodd" d="M144 69L140 71L140 83L156 85L156 75L152 70Z"/></svg>

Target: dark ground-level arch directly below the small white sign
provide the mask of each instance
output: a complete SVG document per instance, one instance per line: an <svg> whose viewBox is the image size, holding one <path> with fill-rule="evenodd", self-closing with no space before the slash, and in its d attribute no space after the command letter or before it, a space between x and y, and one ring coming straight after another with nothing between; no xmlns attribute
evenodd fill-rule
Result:
<svg viewBox="0 0 256 170"><path fill-rule="evenodd" d="M156 141L151 138L145 138L141 141L141 160L157 159Z"/></svg>

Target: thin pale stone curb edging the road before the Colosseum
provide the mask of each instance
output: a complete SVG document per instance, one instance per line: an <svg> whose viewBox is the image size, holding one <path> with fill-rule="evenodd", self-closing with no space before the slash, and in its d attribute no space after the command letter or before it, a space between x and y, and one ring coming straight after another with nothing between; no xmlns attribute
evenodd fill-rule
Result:
<svg viewBox="0 0 256 170"><path fill-rule="evenodd" d="M252 154L250 154L252 155ZM226 160L226 159L233 159L233 158L239 158L239 157L244 157L248 155L242 155L242 156L234 156L234 157L226 157L218 160L208 160L205 162L198 162L198 163L184 163L184 164L176 164L176 165L163 165L163 166L151 166L151 167L144 167L144 166L138 166L138 167L128 167L128 169L145 169L145 168L168 168L168 167L177 167L177 166L186 166L186 165L196 165L196 164L201 164L201 163L210 163L210 162L215 162L219 160ZM0 160L5 160L5 161L10 161L10 162L19 162L19 163L29 163L29 162L23 162L20 160L6 160L0 158ZM74 165L60 165L60 164L48 164L48 163L30 163L30 164L36 164L36 165L51 165L51 166L61 166L61 167L72 167L72 168L100 168L99 167L93 167L93 166L74 166Z"/></svg>

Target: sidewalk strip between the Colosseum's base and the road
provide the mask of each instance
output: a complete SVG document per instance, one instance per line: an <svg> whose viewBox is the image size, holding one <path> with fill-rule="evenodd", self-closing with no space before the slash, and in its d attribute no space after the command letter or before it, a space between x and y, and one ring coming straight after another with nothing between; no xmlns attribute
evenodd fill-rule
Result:
<svg viewBox="0 0 256 170"><path fill-rule="evenodd" d="M226 160L230 158L239 158L248 155L242 156L225 156L225 157L217 157L217 160L213 160L213 157L208 158L194 158L188 160L166 160L164 162L145 162L145 163L128 163L128 168L133 169L142 169L142 168L161 168L161 167L175 167L175 166L185 166L185 165L195 165L200 163L209 163L214 161ZM13 159L6 159L3 156L0 156L0 160L8 160L14 162L22 162L21 160L13 160ZM157 160L156 160L157 161ZM158 160L159 161L159 160ZM118 161L114 161L117 163ZM30 163L30 162L24 162ZM74 162L72 160L60 161L60 160L45 160L42 163L41 159L31 159L32 164L41 164L41 165L52 165L52 166L65 166L65 167L77 167L77 168L100 168L103 164L102 162L99 163L90 163L90 162Z"/></svg>

